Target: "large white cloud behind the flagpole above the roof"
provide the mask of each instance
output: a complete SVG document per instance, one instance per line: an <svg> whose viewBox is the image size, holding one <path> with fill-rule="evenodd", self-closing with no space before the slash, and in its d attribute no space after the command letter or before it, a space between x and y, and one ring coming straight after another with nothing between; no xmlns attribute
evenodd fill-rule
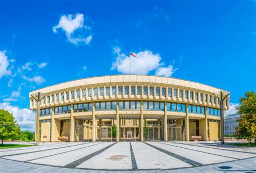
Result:
<svg viewBox="0 0 256 173"><path fill-rule="evenodd" d="M120 47L116 46L113 48L113 53L117 55L116 61L112 63L111 70L117 69L120 73L129 74L130 71L130 57L129 55L125 55L121 53ZM161 71L169 70L170 67L162 67L164 63L161 63L161 57L157 53L153 53L151 51L141 51L138 53L134 53L136 57L131 57L131 74L148 74L150 71L157 70L160 74ZM171 74L174 70L171 69ZM169 76L171 76L171 74Z"/></svg>

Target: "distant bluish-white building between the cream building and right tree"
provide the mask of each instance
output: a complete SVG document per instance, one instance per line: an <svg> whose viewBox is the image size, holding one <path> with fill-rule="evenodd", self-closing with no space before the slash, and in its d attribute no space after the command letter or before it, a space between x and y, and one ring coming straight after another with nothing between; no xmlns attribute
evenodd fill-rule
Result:
<svg viewBox="0 0 256 173"><path fill-rule="evenodd" d="M224 117L224 135L234 135L235 127L238 126L239 114L233 113Z"/></svg>

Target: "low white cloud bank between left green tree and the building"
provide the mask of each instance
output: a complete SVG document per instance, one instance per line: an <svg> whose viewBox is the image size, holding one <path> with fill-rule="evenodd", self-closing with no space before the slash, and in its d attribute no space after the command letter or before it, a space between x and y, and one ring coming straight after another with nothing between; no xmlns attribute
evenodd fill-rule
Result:
<svg viewBox="0 0 256 173"><path fill-rule="evenodd" d="M22 131L35 132L35 112L29 109L20 109L18 106L12 106L7 102L0 103L0 108L14 114Z"/></svg>

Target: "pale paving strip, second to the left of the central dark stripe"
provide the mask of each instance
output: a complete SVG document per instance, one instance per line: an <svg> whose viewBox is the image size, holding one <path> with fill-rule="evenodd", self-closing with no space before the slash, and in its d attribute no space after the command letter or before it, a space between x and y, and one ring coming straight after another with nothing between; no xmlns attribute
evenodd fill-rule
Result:
<svg viewBox="0 0 256 173"><path fill-rule="evenodd" d="M111 145L113 142L97 142L97 145L93 145L88 148L82 148L75 150L73 152L67 152L67 153L62 153L58 155L53 155L49 157L44 157L44 158L39 158L37 160L29 161L31 163L39 163L39 164L46 164L46 165L56 165L56 166L62 166L64 167L65 165L74 162L78 160L79 158L82 158L86 155L89 155L91 153L94 153L106 146Z"/></svg>

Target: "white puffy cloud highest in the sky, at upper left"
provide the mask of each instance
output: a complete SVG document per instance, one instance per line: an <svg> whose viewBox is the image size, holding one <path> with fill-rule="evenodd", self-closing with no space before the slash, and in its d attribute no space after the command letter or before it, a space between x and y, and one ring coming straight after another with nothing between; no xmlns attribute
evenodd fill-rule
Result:
<svg viewBox="0 0 256 173"><path fill-rule="evenodd" d="M59 24L53 26L52 30L57 33L59 28L66 33L68 41L72 44L78 45L79 43L85 43L88 45L92 40L91 27L85 25L84 21L89 22L88 19L84 18L82 13L77 13L76 15L63 15L60 17ZM79 34L75 36L75 32L79 31Z"/></svg>

